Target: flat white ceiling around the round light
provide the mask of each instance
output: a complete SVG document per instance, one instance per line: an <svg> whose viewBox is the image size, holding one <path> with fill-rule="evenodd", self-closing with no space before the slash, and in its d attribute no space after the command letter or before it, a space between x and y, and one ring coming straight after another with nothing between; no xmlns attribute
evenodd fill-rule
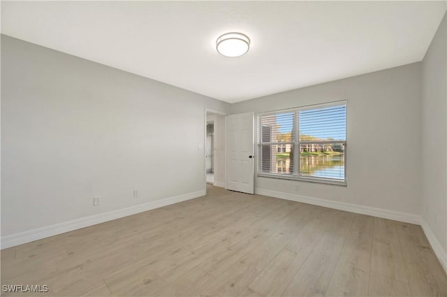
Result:
<svg viewBox="0 0 447 297"><path fill-rule="evenodd" d="M1 32L227 102L421 61L446 1L2 1ZM219 35L251 38L237 58Z"/></svg>

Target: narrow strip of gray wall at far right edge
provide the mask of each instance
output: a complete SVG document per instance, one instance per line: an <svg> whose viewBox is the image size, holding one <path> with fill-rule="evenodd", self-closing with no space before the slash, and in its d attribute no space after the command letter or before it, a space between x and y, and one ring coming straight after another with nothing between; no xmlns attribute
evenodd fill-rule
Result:
<svg viewBox="0 0 447 297"><path fill-rule="evenodd" d="M447 251L446 15L422 63L422 216ZM447 259L444 259L447 261ZM447 263L447 262L446 262Z"/></svg>

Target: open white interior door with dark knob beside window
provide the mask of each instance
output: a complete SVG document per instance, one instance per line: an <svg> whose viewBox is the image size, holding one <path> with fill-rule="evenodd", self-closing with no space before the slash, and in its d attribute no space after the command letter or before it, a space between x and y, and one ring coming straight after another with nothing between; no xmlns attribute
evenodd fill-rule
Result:
<svg viewBox="0 0 447 297"><path fill-rule="evenodd" d="M254 113L226 117L226 189L254 194Z"/></svg>

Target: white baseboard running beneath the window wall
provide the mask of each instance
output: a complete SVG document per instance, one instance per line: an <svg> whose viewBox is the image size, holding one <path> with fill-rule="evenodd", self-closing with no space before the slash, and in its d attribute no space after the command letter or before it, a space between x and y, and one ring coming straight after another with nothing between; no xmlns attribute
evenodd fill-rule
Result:
<svg viewBox="0 0 447 297"><path fill-rule="evenodd" d="M348 212L356 212L362 215L371 215L373 217L382 217L383 219L393 219L395 221L406 222L411 224L420 224L420 216L405 212L396 212L394 210L385 210L383 208L372 208L370 206L344 203L339 201L314 198L296 194L289 194L281 191L271 191L267 189L254 189L255 194L271 196L291 201L297 201L312 205L323 206L325 208L335 208L336 210L344 210Z"/></svg>

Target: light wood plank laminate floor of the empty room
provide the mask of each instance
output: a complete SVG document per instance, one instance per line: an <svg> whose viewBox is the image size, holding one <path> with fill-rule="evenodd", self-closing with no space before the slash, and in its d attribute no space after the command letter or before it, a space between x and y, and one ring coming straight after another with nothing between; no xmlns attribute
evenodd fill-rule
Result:
<svg viewBox="0 0 447 297"><path fill-rule="evenodd" d="M1 284L50 287L21 296L447 296L420 226L207 191L3 249Z"/></svg>

